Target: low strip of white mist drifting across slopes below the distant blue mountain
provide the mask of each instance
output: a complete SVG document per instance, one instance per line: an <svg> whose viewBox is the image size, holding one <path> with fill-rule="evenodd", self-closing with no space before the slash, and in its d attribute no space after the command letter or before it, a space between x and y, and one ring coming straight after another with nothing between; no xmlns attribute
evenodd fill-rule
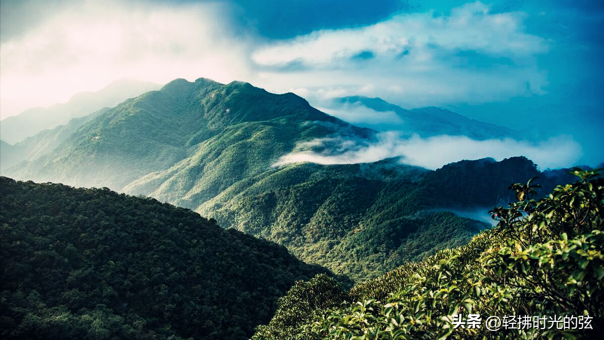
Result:
<svg viewBox="0 0 604 340"><path fill-rule="evenodd" d="M315 152L317 146L327 147ZM376 141L347 138L322 138L297 146L297 151L284 155L273 166L294 162L318 164L354 164L376 162L385 158L402 157L401 162L429 169L461 159L486 157L501 161L513 156L526 156L541 168L568 167L579 161L582 149L570 136L557 136L540 143L528 143L509 138L504 140L472 140L466 136L434 136L430 138L401 138L396 132L383 132Z"/></svg>

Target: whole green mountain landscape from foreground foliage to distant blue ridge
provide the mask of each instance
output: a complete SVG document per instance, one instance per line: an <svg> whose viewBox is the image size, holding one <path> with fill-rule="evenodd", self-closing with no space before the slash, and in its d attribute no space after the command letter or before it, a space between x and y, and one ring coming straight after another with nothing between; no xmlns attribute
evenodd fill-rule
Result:
<svg viewBox="0 0 604 340"><path fill-rule="evenodd" d="M340 102L395 112L408 135L521 138L434 107ZM0 177L0 335L478 339L452 332L451 313L602 318L597 172L574 168L581 181L556 187L573 181L568 169L539 171L522 156L437 170L404 158L282 161L373 143L378 127L291 93L177 79L0 141L12 162L2 175L24 180ZM542 265L554 257L557 267Z"/></svg>

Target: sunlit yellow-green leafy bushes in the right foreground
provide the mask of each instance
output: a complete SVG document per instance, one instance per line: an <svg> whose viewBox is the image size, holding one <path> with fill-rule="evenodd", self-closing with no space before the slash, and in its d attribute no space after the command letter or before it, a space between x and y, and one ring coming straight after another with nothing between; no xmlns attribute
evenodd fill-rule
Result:
<svg viewBox="0 0 604 340"><path fill-rule="evenodd" d="M522 200L492 211L496 228L359 284L349 292L359 302L327 309L294 333L350 340L597 338L604 324L604 179L596 170L573 173L580 181L537 201L530 181L512 185ZM455 315L470 313L481 315L481 329L454 327ZM593 329L484 329L488 316L504 315L590 316Z"/></svg>

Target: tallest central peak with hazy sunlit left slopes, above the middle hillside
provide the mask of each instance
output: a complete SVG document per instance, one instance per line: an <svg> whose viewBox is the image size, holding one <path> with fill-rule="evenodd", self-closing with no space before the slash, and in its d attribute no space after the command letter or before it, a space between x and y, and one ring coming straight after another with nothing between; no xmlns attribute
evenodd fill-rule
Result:
<svg viewBox="0 0 604 340"><path fill-rule="evenodd" d="M333 133L369 138L373 132L294 94L270 94L242 82L179 79L124 101L52 153L7 174L134 194L163 190L170 202L190 207L264 172L298 142Z"/></svg>

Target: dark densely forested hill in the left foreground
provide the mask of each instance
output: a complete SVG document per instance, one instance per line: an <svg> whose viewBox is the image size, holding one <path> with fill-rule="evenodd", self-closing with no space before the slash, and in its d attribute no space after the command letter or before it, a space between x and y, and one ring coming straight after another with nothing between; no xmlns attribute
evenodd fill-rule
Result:
<svg viewBox="0 0 604 340"><path fill-rule="evenodd" d="M327 271L146 197L0 177L3 339L249 339Z"/></svg>

